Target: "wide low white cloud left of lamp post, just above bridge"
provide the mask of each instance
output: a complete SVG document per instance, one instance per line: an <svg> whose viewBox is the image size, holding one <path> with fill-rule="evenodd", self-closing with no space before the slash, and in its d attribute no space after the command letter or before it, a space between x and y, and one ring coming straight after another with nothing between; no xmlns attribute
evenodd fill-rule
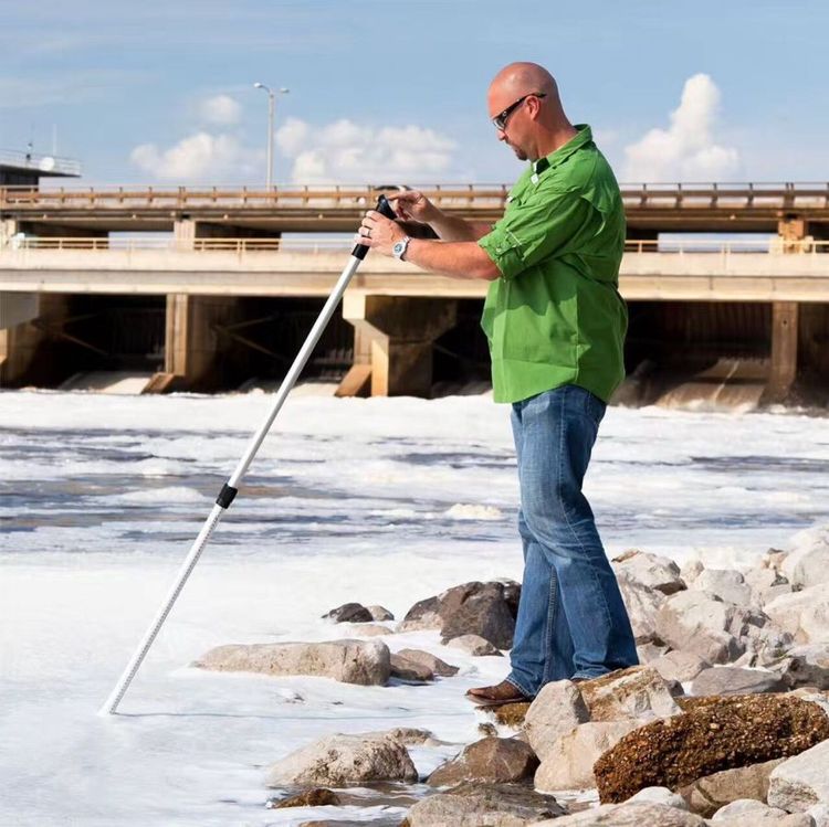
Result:
<svg viewBox="0 0 829 827"><path fill-rule="evenodd" d="M248 179L263 167L260 151L245 149L232 135L196 132L169 149L143 144L129 155L141 171L162 181Z"/></svg>

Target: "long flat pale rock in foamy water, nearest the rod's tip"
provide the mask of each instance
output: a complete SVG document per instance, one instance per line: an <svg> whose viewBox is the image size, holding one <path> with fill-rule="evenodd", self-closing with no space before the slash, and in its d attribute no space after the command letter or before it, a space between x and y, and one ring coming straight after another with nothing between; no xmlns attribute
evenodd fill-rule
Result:
<svg viewBox="0 0 829 827"><path fill-rule="evenodd" d="M385 686L391 671L388 646L379 640L231 644L210 649L193 666L212 671L309 675L359 686Z"/></svg>

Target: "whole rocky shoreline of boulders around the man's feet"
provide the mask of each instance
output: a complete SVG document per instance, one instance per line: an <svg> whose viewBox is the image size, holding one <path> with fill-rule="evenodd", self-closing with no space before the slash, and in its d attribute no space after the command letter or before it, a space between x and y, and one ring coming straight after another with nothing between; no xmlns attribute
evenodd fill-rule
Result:
<svg viewBox="0 0 829 827"><path fill-rule="evenodd" d="M743 572L626 552L612 566L639 667L549 683L532 703L471 707L482 738L426 777L410 748L453 746L427 730L333 732L269 767L266 806L313 808L305 821L296 810L308 827L829 827L829 529L808 540ZM520 593L511 581L464 583L396 626L384 607L350 603L326 615L348 629L337 639L231 644L195 666L357 686L451 681L453 653L510 649ZM440 654L396 645L424 629L440 635ZM367 789L388 812L349 821Z"/></svg>

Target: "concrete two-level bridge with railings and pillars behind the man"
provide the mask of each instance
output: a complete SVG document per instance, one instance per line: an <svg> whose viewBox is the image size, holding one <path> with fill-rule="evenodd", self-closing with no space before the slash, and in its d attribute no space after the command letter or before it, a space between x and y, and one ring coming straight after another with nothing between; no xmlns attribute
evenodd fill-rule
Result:
<svg viewBox="0 0 829 827"><path fill-rule="evenodd" d="M421 189L449 212L492 221L508 191ZM228 341L277 357L249 336L250 301L327 296L351 245L312 233L353 231L377 193L0 188L0 382L29 381L45 342L53 354L59 343L104 354L78 320L99 316L107 296L164 319L151 390L209 386ZM829 184L637 185L623 197L620 290L631 307L631 369L657 356L679 370L692 356L694 367L683 369L739 382L736 353L767 400L784 399L802 373L829 388ZM124 238L124 231L136 234ZM664 236L702 232L770 237ZM485 290L369 256L343 307L340 324L354 330L346 361L355 365L344 392L370 382L378 394L428 393L434 348L461 325L464 308L476 315Z"/></svg>

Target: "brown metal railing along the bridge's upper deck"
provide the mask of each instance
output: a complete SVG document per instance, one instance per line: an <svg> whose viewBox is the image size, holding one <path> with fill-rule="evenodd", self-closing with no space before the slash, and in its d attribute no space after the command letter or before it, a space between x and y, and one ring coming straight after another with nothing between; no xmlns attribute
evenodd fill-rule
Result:
<svg viewBox="0 0 829 827"><path fill-rule="evenodd" d="M347 210L372 204L378 192L395 189L399 188L371 184L286 185L270 190L249 187L4 187L0 188L0 210L186 210L199 206ZM432 183L416 189L441 206L492 209L503 206L511 184ZM829 182L623 183L621 193L628 209L829 209Z"/></svg>

